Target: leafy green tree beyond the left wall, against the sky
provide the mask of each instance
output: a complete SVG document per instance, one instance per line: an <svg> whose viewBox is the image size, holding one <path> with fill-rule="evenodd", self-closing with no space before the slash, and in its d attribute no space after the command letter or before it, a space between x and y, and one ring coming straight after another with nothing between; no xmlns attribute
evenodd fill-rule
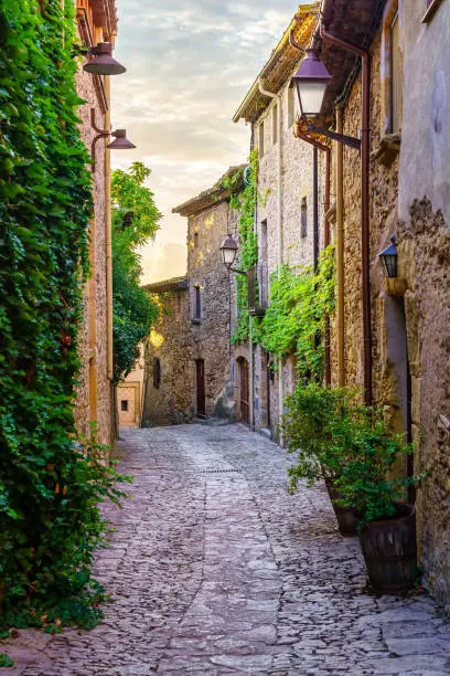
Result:
<svg viewBox="0 0 450 676"><path fill-rule="evenodd" d="M158 306L140 286L139 247L153 237L161 219L152 191L143 183L150 169L133 162L111 176L114 378L124 379L139 357L139 344L158 317Z"/></svg>

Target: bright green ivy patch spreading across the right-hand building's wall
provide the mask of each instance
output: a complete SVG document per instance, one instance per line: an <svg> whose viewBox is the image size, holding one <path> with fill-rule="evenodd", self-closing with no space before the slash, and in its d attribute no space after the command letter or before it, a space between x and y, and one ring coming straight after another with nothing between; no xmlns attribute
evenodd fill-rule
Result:
<svg viewBox="0 0 450 676"><path fill-rule="evenodd" d="M270 279L270 302L260 325L259 341L278 357L296 357L302 381L321 379L325 316L334 311L334 250L325 249L318 271L303 267L300 273L288 265L275 271Z"/></svg>

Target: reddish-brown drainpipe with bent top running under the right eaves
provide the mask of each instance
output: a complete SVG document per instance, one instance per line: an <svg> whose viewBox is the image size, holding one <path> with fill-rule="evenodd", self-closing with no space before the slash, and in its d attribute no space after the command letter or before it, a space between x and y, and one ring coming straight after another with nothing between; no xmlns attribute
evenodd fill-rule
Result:
<svg viewBox="0 0 450 676"><path fill-rule="evenodd" d="M372 404L372 326L371 326L371 267L369 267L369 122L371 122L371 54L367 50L331 35L321 24L320 36L329 44L361 56L361 263L363 287L363 355L364 401Z"/></svg>

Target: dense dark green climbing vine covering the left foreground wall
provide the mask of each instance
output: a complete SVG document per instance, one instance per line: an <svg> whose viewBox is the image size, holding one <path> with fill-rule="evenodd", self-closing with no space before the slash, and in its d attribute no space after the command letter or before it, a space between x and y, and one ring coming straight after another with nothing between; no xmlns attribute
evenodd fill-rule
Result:
<svg viewBox="0 0 450 676"><path fill-rule="evenodd" d="M63 7L64 6L64 7ZM89 625L115 473L75 442L90 172L74 3L0 0L0 627Z"/></svg>

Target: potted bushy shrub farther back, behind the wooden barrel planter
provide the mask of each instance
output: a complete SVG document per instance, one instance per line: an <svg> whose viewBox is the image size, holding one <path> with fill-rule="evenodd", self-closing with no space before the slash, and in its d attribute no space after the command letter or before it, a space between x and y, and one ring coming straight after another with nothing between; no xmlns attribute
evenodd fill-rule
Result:
<svg viewBox="0 0 450 676"><path fill-rule="evenodd" d="M282 432L289 453L297 462L288 469L289 490L298 488L304 478L311 486L325 482L339 529L342 535L355 536L357 514L347 501L343 504L338 479L345 466L353 429L362 414L355 392L345 388L323 388L319 383L299 384L286 400Z"/></svg>

